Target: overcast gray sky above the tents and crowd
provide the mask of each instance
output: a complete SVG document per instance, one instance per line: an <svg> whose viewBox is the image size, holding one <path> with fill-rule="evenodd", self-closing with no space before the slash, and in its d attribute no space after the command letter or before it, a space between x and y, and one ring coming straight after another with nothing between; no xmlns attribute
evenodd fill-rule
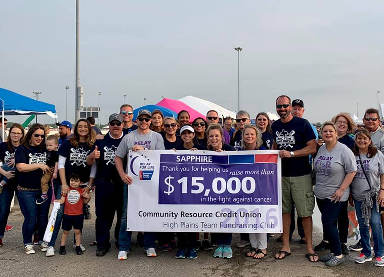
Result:
<svg viewBox="0 0 384 277"><path fill-rule="evenodd" d="M252 117L287 94L311 122L384 102L384 2L80 1L84 105L105 115L126 103L193 95ZM0 87L56 105L74 121L75 0L0 3ZM27 117L9 117L24 121ZM48 116L43 121L54 122Z"/></svg>

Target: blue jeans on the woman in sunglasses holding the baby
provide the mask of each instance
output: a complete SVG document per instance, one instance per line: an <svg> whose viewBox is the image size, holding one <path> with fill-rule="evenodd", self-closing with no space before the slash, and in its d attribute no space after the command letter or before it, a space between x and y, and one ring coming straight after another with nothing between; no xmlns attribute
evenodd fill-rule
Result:
<svg viewBox="0 0 384 277"><path fill-rule="evenodd" d="M52 188L49 187L48 200L41 205L37 205L36 200L40 196L41 190L17 191L18 203L24 216L24 223L22 224L22 237L24 245L32 244L33 229L36 222L40 243L42 243L45 229L48 225L48 213L50 201L52 199Z"/></svg>

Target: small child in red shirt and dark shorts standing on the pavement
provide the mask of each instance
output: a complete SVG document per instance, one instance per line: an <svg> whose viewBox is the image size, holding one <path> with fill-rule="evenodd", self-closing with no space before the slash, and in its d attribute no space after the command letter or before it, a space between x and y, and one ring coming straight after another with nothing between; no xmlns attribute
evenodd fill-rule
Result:
<svg viewBox="0 0 384 277"><path fill-rule="evenodd" d="M76 254L81 255L81 229L84 226L84 214L83 206L90 201L89 193L83 192L80 186L83 183L81 174L73 172L70 175L69 190L61 199L57 199L55 202L64 206L64 216L62 218L62 235L61 235L61 246L59 253L61 255L66 254L65 242L68 237L69 231L72 229L76 238Z"/></svg>

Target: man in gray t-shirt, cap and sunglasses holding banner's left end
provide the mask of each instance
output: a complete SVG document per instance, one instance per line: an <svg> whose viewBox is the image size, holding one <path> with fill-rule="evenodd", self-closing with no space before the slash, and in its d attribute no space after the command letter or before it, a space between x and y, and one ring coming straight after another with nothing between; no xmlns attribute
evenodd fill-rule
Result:
<svg viewBox="0 0 384 277"><path fill-rule="evenodd" d="M164 140L159 133L149 129L152 121L152 114L149 110L138 111L137 124L138 129L124 136L116 151L115 163L118 174L124 182L124 204L121 219L121 228L119 234L119 252L117 259L126 260L130 251L132 232L126 231L127 207L128 207L128 185L132 184L132 178L127 174L128 166L124 166L124 159L128 158L129 150L165 150ZM144 232L144 246L148 257L156 257L155 241L156 233Z"/></svg>

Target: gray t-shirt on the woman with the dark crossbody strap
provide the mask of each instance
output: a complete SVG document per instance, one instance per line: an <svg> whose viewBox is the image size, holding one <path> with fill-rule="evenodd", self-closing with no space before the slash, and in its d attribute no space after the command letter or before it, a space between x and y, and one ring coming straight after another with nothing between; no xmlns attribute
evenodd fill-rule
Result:
<svg viewBox="0 0 384 277"><path fill-rule="evenodd" d="M384 154L380 151L377 152L372 158L367 158L366 155L361 154L362 166L365 169L366 175L369 178L370 185L380 190L381 180L380 176L384 174ZM360 158L356 156L357 173L353 178L350 189L352 191L353 199L363 201L365 194L370 191L368 181L366 181L364 172L362 171Z"/></svg>

